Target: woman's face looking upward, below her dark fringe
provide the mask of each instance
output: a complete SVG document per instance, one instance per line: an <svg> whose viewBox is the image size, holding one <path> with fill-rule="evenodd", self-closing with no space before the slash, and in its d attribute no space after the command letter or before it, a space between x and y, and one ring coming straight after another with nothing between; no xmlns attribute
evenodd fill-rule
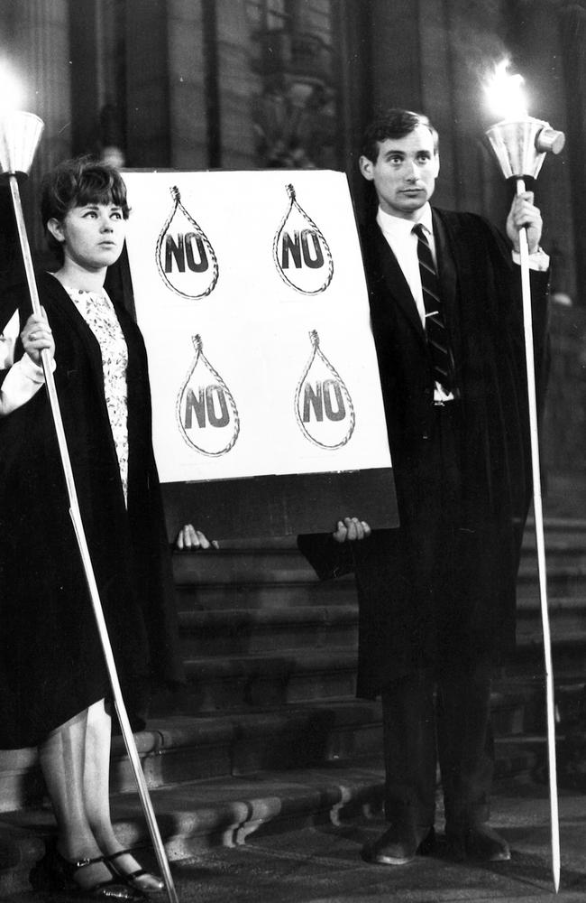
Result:
<svg viewBox="0 0 586 903"><path fill-rule="evenodd" d="M64 219L50 219L48 225L61 242L66 261L90 272L114 264L122 252L126 220L115 204L72 207Z"/></svg>

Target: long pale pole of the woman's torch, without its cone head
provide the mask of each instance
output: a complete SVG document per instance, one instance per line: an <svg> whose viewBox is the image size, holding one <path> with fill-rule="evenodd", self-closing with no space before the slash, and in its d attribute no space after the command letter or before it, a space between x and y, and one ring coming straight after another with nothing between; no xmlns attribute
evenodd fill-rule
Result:
<svg viewBox="0 0 586 903"><path fill-rule="evenodd" d="M18 188L18 181L14 174L9 175L9 183L14 203L16 228L18 230L18 237L23 252L24 270L26 273L29 293L31 294L32 311L36 316L41 316L41 303L39 301L39 293L34 277L31 249L29 247L26 228L24 226L23 207L21 203L20 191ZM124 744L128 752L128 757L131 760L131 764L133 766L134 777L136 779L136 786L141 798L142 809L149 827L149 831L151 833L152 843L157 856L157 861L159 862L162 879L165 882L165 889L167 890L169 903L179 903L177 891L175 890L175 885L173 884L173 879L169 870L169 861L167 859L165 847L160 837L159 826L157 824L154 810L152 808L151 797L149 796L149 790L146 785L144 773L142 771L141 760L139 759L138 750L136 749L136 743L134 742L133 729L128 719L122 690L120 688L120 682L118 680L118 674L116 672L114 654L112 652L110 638L108 637L104 612L102 610L102 604L96 584L96 576L94 574L94 568L92 566L89 550L87 548L86 534L79 511L78 494L75 487L75 481L73 479L73 471L71 469L71 461L69 459L69 450L65 437L65 430L63 428L63 421L61 419L59 399L57 397L55 380L53 378L53 372L51 368L50 354L47 349L43 349L41 353L41 360L43 372L45 375L45 385L47 386L47 394L49 396L51 414L53 416L55 430L57 433L57 440L59 442L63 473L65 475L65 481L67 483L67 490L69 495L69 515L71 517L71 520L73 521L73 527L78 539L79 554L81 555L81 560L86 574L87 589L89 591L92 607L96 616L96 625L104 650L105 664L108 671L110 684L112 686L112 692L114 694L114 705L118 714L118 720L120 721L120 727L122 729Z"/></svg>

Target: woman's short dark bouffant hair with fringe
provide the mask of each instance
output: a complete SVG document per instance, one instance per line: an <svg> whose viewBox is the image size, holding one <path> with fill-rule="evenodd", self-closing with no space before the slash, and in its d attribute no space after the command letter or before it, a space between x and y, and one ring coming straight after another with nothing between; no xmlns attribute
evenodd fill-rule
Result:
<svg viewBox="0 0 586 903"><path fill-rule="evenodd" d="M47 223L50 219L61 222L72 207L85 204L115 204L128 219L126 186L114 166L84 156L65 160L47 172L41 182L41 219L47 244L61 261L63 248L50 234Z"/></svg>

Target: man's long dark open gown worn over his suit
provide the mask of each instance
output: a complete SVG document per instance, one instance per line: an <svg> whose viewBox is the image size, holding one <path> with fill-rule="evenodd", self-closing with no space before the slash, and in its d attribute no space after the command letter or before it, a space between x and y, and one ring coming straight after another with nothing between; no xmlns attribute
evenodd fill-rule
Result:
<svg viewBox="0 0 586 903"><path fill-rule="evenodd" d="M431 358L413 296L376 222L362 230L362 253L401 526L374 531L352 550L329 538L321 544L316 537L299 539L323 577L347 569L343 556L353 554L360 600L357 693L366 697L414 666L498 660L515 645L517 567L532 479L520 272L487 220L440 209L433 215L462 395L462 508L453 524L452 598L438 599L433 564L428 573L425 565L433 557L426 544L430 474L421 470L437 416ZM548 277L532 273L531 281L541 396Z"/></svg>

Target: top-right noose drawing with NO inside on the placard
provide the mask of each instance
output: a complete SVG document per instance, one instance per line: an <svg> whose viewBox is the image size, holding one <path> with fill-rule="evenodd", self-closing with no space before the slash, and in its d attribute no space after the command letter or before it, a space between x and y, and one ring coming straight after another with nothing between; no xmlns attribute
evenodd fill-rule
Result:
<svg viewBox="0 0 586 903"><path fill-rule="evenodd" d="M285 187L289 203L272 243L275 265L296 292L325 292L334 275L332 252L321 229L300 207L293 185Z"/></svg>

